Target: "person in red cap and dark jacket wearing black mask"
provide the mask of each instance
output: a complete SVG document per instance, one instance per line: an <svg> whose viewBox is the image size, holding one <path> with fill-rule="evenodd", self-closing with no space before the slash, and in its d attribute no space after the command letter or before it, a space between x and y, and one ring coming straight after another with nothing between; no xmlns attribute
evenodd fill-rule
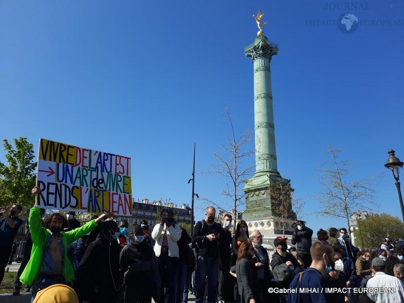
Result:
<svg viewBox="0 0 404 303"><path fill-rule="evenodd" d="M288 288L295 274L301 272L296 258L287 252L287 238L278 236L274 239L276 251L272 255L271 268L279 288ZM280 301L286 302L286 294L280 295Z"/></svg>

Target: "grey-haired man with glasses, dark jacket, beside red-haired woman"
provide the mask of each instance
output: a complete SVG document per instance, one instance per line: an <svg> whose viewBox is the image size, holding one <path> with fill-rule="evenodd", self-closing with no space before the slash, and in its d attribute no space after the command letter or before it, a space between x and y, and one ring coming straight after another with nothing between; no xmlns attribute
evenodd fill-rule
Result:
<svg viewBox="0 0 404 303"><path fill-rule="evenodd" d="M252 247L254 247L254 257L252 260L257 271L257 286L260 299L263 302L272 301L275 296L270 296L268 288L271 286L271 270L269 269L269 257L267 249L262 246L262 234L259 230L254 230L249 235Z"/></svg>

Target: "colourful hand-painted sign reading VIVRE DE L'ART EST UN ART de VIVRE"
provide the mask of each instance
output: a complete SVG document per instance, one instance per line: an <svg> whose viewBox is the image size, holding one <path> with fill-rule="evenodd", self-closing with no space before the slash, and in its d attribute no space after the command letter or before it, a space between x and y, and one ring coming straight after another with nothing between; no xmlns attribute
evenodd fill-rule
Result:
<svg viewBox="0 0 404 303"><path fill-rule="evenodd" d="M132 214L128 157L40 139L37 181L39 207Z"/></svg>

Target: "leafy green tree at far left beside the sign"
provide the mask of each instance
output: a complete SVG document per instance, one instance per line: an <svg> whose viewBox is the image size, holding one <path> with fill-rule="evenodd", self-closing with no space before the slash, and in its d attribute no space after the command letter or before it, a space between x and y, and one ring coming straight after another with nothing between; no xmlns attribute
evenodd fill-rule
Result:
<svg viewBox="0 0 404 303"><path fill-rule="evenodd" d="M0 162L0 206L33 204L31 194L35 186L36 162L33 145L27 138L13 139L15 148L4 139L4 150L8 166Z"/></svg>

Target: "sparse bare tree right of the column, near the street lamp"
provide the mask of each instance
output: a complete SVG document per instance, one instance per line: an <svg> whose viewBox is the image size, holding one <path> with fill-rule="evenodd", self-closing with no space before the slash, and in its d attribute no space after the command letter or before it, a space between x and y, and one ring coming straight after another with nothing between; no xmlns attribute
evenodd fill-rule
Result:
<svg viewBox="0 0 404 303"><path fill-rule="evenodd" d="M339 159L341 149L328 146L327 154L330 160L321 164L320 184L322 190L317 200L322 206L319 215L344 218L350 233L349 218L357 210L370 210L375 206L371 181L375 178L349 180L349 162Z"/></svg>

